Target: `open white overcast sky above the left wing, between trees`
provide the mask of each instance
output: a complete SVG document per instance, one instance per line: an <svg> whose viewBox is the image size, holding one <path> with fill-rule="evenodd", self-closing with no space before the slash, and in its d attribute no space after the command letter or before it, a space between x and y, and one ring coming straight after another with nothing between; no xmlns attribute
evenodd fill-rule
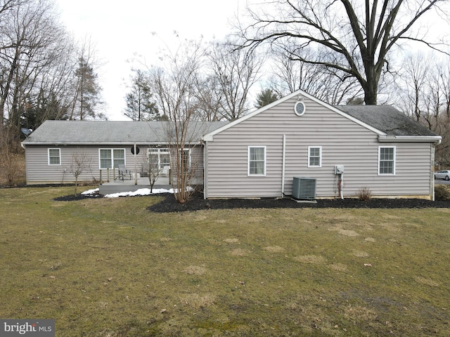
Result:
<svg viewBox="0 0 450 337"><path fill-rule="evenodd" d="M117 121L130 120L123 115L125 81L131 74L127 60L137 53L151 63L158 48L173 39L174 31L183 39L221 39L231 32L229 22L245 1L57 0L57 4L68 31L76 39L90 37L95 44L96 58L103 63L98 76L105 114Z"/></svg>

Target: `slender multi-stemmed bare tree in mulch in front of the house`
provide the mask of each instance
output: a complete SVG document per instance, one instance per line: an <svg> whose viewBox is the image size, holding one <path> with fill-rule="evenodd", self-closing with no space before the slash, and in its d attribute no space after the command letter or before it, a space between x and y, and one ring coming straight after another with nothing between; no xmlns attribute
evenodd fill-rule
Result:
<svg viewBox="0 0 450 337"><path fill-rule="evenodd" d="M195 121L198 108L195 82L203 65L204 49L200 43L185 41L171 53L167 51L165 67L150 69L150 86L158 104L158 110L169 120L166 136L169 139L172 186L174 196L181 204L187 202L195 189L195 163L191 150L200 142Z"/></svg>

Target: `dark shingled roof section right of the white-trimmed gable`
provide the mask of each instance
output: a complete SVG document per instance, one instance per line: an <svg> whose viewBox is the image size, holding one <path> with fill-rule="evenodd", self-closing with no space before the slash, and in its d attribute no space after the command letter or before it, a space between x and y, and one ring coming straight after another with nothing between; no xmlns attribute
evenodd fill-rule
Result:
<svg viewBox="0 0 450 337"><path fill-rule="evenodd" d="M425 126L387 105L335 105L345 114L386 133L387 136L437 136Z"/></svg>

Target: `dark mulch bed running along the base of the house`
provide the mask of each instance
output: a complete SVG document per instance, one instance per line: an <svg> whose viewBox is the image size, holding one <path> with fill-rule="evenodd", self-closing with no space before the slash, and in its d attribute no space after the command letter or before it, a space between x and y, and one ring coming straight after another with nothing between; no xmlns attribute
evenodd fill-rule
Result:
<svg viewBox="0 0 450 337"><path fill-rule="evenodd" d="M179 204L174 194L158 194L164 197L162 201L148 210L157 213L172 213L198 211L201 209L295 209L295 208L338 208L338 209L424 209L450 208L450 201L430 201L423 199L319 199L316 202L297 202L290 198L284 199L203 199L203 194L195 194L193 199L185 204ZM101 194L77 196L68 195L55 198L57 201L72 201L80 199L101 198ZM145 196L144 196L145 197Z"/></svg>

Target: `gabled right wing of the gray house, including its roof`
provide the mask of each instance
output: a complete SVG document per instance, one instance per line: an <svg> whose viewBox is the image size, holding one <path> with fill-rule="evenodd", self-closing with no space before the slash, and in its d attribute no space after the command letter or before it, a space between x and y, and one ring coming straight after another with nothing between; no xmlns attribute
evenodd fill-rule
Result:
<svg viewBox="0 0 450 337"><path fill-rule="evenodd" d="M441 140L394 107L296 91L203 137L205 198L433 199Z"/></svg>

